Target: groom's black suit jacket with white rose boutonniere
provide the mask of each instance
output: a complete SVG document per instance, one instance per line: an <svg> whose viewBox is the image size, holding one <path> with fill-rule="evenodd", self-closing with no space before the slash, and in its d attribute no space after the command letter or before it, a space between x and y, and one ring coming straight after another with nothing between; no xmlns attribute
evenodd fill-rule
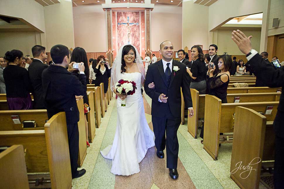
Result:
<svg viewBox="0 0 284 189"><path fill-rule="evenodd" d="M174 117L181 117L181 87L185 107L192 107L192 100L189 89L189 75L186 71L186 66L176 60L172 61L172 68L173 66L178 66L180 70L178 70L174 74L174 70L172 69L169 86L167 86L167 80L162 60L148 66L144 89L146 94L150 96L150 98L152 98L152 116L164 117L166 115L166 112L164 110L167 108L167 106L169 106L170 111ZM148 84L152 82L154 82L155 84L155 89L148 88ZM158 101L158 98L162 93L169 97L167 103L161 103Z"/></svg>

